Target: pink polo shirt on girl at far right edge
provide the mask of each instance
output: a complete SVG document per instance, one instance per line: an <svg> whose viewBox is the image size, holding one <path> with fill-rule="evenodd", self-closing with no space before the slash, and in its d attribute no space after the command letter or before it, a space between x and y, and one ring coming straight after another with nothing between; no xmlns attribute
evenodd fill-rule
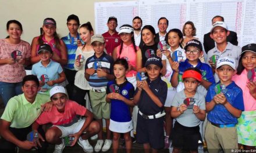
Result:
<svg viewBox="0 0 256 153"><path fill-rule="evenodd" d="M247 82L249 82L247 78L247 70L244 69L240 75L234 75L232 78L233 81L236 83L243 90L243 99L244 99L244 111L255 111L256 110L256 100L250 94L249 88L247 88ZM254 77L253 81L256 81L256 77Z"/></svg>

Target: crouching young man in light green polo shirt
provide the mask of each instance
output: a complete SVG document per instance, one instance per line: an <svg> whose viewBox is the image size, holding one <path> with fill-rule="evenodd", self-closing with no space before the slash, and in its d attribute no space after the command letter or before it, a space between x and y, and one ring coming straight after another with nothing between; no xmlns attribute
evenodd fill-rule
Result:
<svg viewBox="0 0 256 153"><path fill-rule="evenodd" d="M37 93L40 90L39 81L35 75L26 75L22 81L23 94L12 97L6 105L0 119L0 152L15 152L16 146L25 150L38 147L38 151L46 152L46 146L27 140L31 124L41 113L41 105L49 101L47 94ZM44 136L43 130L38 130ZM45 141L42 137L42 141ZM39 145L39 146L38 146ZM42 146L42 147L41 147Z"/></svg>

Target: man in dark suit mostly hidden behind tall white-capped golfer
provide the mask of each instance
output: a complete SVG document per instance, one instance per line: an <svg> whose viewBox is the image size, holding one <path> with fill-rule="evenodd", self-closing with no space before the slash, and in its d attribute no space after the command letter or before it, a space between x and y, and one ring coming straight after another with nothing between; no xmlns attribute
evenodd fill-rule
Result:
<svg viewBox="0 0 256 153"><path fill-rule="evenodd" d="M223 21L224 18L222 16L215 16L212 18L212 25L216 21ZM209 50L213 49L215 47L215 42L214 39L210 37L211 32L208 32L207 34L204 35L204 50L206 53L208 53ZM234 31L229 31L229 35L227 35L227 42L232 43L233 45L238 44L237 42L237 34Z"/></svg>

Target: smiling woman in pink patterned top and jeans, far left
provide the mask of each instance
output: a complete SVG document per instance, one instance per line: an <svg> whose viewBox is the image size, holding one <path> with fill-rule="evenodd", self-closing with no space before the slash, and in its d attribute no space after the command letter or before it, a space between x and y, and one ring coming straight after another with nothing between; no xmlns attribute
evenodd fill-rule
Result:
<svg viewBox="0 0 256 153"><path fill-rule="evenodd" d="M30 64L30 44L20 39L23 28L17 20L6 24L9 36L0 39L0 94L6 105L13 96L22 93L24 65Z"/></svg>

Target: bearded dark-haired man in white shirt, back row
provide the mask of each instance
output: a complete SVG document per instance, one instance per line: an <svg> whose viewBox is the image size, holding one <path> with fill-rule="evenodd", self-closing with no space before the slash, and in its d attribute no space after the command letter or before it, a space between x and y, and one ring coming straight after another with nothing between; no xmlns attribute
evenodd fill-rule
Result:
<svg viewBox="0 0 256 153"><path fill-rule="evenodd" d="M133 18L133 29L134 29L134 40L136 46L141 46L143 41L141 41L141 27L142 20L140 17L136 16Z"/></svg>

